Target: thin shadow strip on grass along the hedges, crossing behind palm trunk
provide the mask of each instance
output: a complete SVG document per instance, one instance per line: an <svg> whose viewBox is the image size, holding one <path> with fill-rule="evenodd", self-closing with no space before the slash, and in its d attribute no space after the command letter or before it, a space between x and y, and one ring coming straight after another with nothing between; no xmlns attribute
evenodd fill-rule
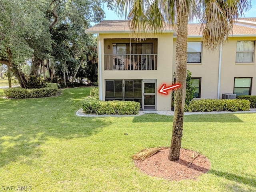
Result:
<svg viewBox="0 0 256 192"><path fill-rule="evenodd" d="M144 114L136 116L133 122L172 122L173 116L158 115L158 114ZM198 114L198 115L185 115L184 122L219 122L219 123L235 123L243 122L234 114Z"/></svg>

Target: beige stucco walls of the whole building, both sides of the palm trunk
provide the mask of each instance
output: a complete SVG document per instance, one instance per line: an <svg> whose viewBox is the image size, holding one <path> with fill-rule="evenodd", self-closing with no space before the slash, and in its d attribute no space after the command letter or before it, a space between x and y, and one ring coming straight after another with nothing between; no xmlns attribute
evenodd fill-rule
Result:
<svg viewBox="0 0 256 192"><path fill-rule="evenodd" d="M105 80L106 79L156 79L156 109L171 109L171 94L167 96L159 94L158 89L165 83L172 84L175 72L175 38L172 34L149 35L150 38L157 38L157 47L153 48L153 53L157 56L157 70L104 70L104 54L112 54L112 49L108 49L111 39L131 38L129 34L100 34L98 36L98 47L100 47L99 67L101 67L101 80L99 86L102 90L102 100L105 100ZM221 50L221 70L220 70L220 94L218 95L219 61L220 47L214 51L202 48L202 62L188 63L188 69L192 72L192 77L201 78L201 98L222 98L224 93L233 93L235 77L252 77L252 95L256 95L256 63L255 51L252 63L236 63L236 42L245 40L256 40L254 37L230 37L228 42L222 46ZM188 42L199 42L201 38L188 38ZM111 46L111 44L110 44ZM154 50L157 48L157 51ZM101 62L100 62L101 60ZM100 73L100 70L99 70Z"/></svg>

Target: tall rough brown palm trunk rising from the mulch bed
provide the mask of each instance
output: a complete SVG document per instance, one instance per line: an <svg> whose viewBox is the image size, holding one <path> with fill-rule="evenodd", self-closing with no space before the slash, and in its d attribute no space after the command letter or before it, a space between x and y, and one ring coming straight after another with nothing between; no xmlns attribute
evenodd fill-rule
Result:
<svg viewBox="0 0 256 192"><path fill-rule="evenodd" d="M177 5L177 13L179 8L181 7ZM184 6L180 11L181 13L177 14L176 23L176 82L181 84L181 87L174 92L172 141L168 156L168 159L171 161L176 161L180 157L186 96L188 14Z"/></svg>

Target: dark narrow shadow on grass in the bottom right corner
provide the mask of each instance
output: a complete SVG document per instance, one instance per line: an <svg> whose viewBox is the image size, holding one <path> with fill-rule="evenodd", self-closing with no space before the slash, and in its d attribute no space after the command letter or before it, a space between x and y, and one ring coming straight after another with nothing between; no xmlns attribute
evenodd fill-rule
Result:
<svg viewBox="0 0 256 192"><path fill-rule="evenodd" d="M236 183L240 183L240 184L244 184L247 186L251 186L253 188L256 187L256 175L248 175L247 176L240 176L240 175L236 175L236 174L232 174L232 173L228 173L228 172L222 172L222 171L217 171L217 170L210 170L208 172L209 174L214 174L218 177L223 177L225 179L228 179L230 181L234 181ZM239 190L241 191L241 190Z"/></svg>

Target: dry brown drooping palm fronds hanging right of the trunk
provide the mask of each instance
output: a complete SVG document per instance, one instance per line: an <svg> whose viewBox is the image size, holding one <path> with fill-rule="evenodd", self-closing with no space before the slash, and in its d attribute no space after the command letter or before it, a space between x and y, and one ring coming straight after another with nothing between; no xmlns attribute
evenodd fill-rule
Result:
<svg viewBox="0 0 256 192"><path fill-rule="evenodd" d="M234 21L250 8L245 0L206 0L202 16L204 46L214 50L223 44L232 33Z"/></svg>

